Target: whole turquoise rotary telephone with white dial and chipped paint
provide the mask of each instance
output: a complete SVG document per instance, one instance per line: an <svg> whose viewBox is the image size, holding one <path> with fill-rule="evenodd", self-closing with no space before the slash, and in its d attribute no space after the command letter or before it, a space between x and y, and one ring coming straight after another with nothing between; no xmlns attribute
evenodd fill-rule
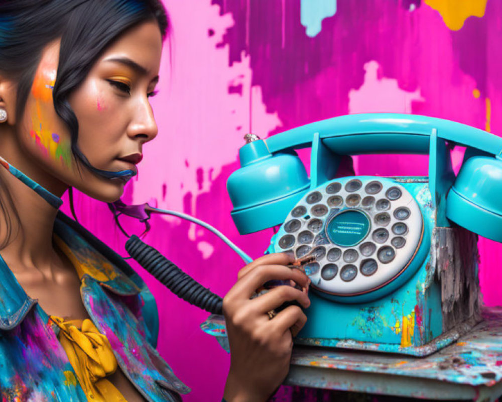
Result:
<svg viewBox="0 0 502 402"><path fill-rule="evenodd" d="M466 147L457 177L453 146ZM295 149L312 147L310 178ZM429 154L429 175L338 177L342 157ZM421 356L480 320L477 235L502 242L502 138L425 116L336 117L249 137L228 179L241 234L281 225L268 252L308 254L296 342Z"/></svg>

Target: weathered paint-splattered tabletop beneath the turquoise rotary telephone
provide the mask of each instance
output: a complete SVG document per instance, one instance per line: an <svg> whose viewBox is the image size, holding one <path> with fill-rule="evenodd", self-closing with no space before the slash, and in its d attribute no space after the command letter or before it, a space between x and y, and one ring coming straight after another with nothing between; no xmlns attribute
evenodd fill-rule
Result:
<svg viewBox="0 0 502 402"><path fill-rule="evenodd" d="M224 321L202 328L225 347ZM427 357L296 346L286 384L417 398L496 400L502 395L502 307L456 343Z"/></svg>

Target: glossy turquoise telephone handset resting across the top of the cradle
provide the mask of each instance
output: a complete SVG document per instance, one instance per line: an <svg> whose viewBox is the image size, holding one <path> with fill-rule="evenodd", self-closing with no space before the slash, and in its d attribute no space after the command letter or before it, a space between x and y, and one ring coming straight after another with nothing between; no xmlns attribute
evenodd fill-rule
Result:
<svg viewBox="0 0 502 402"><path fill-rule="evenodd" d="M434 158L432 153L439 151L441 142L468 148L448 197L448 218L502 242L502 205L498 203L502 138L461 123L416 115L340 116L246 144L239 150L242 168L227 183L234 206L232 218L241 234L281 224L301 194L334 177L341 155L430 153ZM309 180L303 164L290 151L310 146ZM434 166L439 161L431 162L431 170L441 168Z"/></svg>

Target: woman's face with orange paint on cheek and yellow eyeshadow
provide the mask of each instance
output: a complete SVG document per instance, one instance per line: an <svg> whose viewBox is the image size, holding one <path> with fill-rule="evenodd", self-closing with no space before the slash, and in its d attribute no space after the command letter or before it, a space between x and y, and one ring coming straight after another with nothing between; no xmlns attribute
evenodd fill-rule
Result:
<svg viewBox="0 0 502 402"><path fill-rule="evenodd" d="M118 172L142 159L143 144L157 135L149 97L155 94L162 50L157 22L145 22L124 33L94 63L69 96L78 120L78 147L98 169ZM123 192L124 180L103 178L72 154L70 134L53 106L59 41L44 50L35 74L19 136L27 160L42 168L39 182L48 189L73 186L111 202ZM33 177L37 180L39 174ZM38 180L37 180L38 181Z"/></svg>

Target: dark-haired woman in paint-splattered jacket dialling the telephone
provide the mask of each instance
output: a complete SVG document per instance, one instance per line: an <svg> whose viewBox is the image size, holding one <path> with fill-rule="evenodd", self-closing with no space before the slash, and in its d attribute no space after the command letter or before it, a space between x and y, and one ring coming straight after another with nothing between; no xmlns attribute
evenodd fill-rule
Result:
<svg viewBox="0 0 502 402"><path fill-rule="evenodd" d="M121 258L58 213L72 187L120 197L157 135L149 104L168 19L158 0L0 0L2 400L179 400L155 350L155 302ZM106 251L107 258L103 256ZM223 301L224 397L266 400L287 374L308 278L285 254L244 267ZM267 313L269 312L269 313ZM271 319L273 317L273 319Z"/></svg>

